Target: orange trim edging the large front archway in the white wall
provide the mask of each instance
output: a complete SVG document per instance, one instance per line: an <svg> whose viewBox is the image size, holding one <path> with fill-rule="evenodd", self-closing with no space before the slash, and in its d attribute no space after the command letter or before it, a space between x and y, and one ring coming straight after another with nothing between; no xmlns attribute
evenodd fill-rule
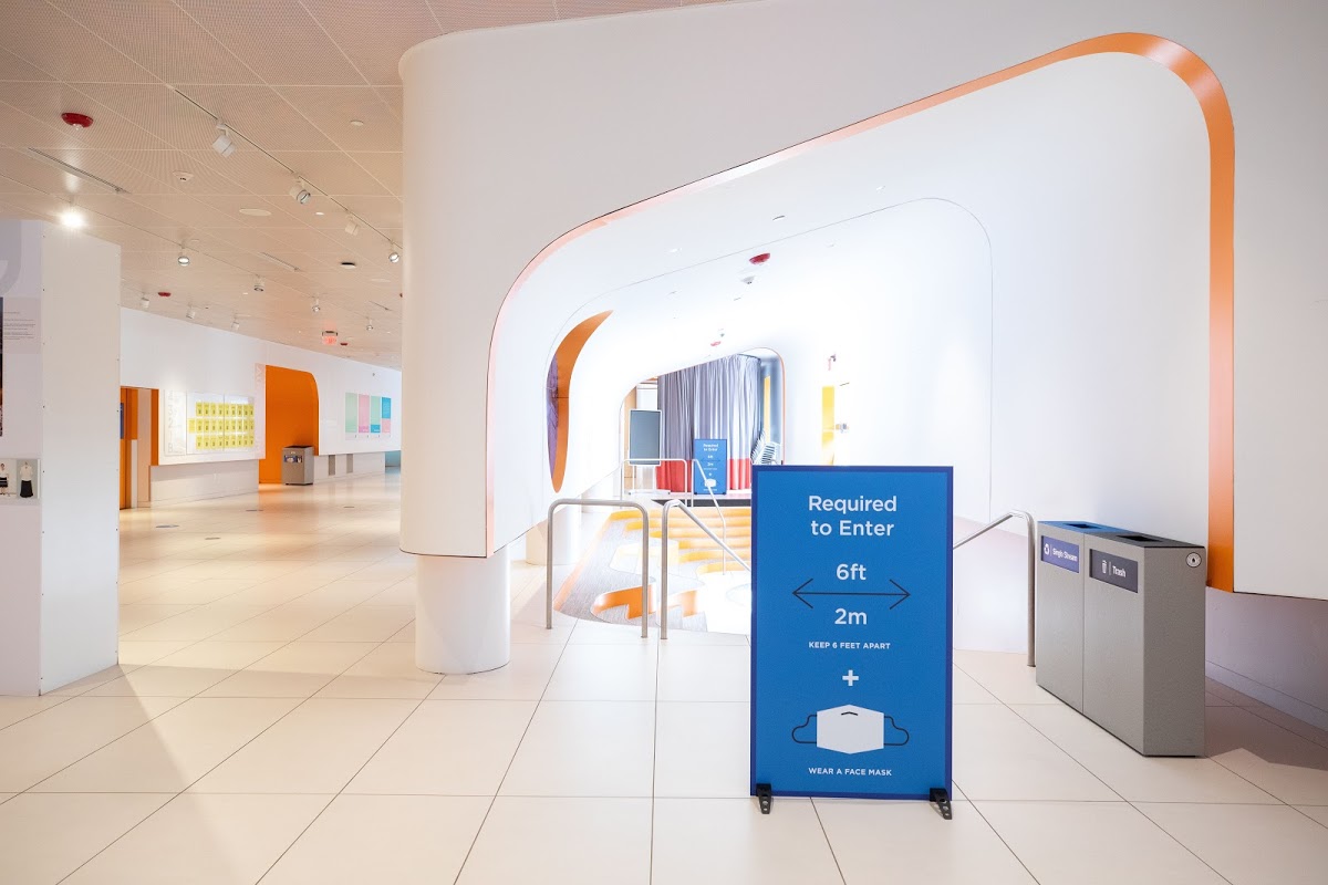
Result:
<svg viewBox="0 0 1328 885"><path fill-rule="evenodd" d="M1235 589L1235 129L1231 119L1231 106L1216 74L1197 54L1185 46L1143 33L1117 33L1093 37L1072 44L1056 52L1038 56L1031 61L1005 68L996 73L971 80L967 84L947 89L875 117L859 121L833 133L794 145L761 159L736 166L709 178L684 184L665 194L652 196L625 206L620 210L586 222L546 245L539 255L522 269L507 291L498 318L494 321L493 337L489 342L489 393L486 401L486 460L487 460L487 545L493 551L493 399L494 361L497 341L502 333L502 322L517 293L526 280L546 261L572 240L604 227L610 222L628 218L663 203L699 191L732 182L752 172L769 169L777 163L801 157L802 154L845 138L851 138L879 126L930 110L955 98L969 96L988 86L1007 82L1061 61L1084 58L1105 53L1125 53L1150 58L1162 65L1190 88L1203 111L1208 130L1210 169L1210 240L1208 240L1208 586Z"/></svg>

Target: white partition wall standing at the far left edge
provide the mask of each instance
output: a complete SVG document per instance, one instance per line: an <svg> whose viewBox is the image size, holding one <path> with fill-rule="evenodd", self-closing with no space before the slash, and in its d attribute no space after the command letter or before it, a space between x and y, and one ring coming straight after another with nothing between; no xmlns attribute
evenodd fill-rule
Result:
<svg viewBox="0 0 1328 885"><path fill-rule="evenodd" d="M118 295L118 245L0 220L0 694L117 658Z"/></svg>

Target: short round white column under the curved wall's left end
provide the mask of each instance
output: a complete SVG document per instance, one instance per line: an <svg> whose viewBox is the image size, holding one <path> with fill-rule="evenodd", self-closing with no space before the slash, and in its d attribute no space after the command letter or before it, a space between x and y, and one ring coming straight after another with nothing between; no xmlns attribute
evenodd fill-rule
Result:
<svg viewBox="0 0 1328 885"><path fill-rule="evenodd" d="M489 557L416 557L416 665L429 673L495 670L511 658L511 568Z"/></svg>

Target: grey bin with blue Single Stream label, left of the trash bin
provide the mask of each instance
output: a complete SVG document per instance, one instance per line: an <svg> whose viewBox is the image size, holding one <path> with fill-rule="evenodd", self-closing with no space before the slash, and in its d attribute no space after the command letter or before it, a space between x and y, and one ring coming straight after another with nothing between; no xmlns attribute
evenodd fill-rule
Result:
<svg viewBox="0 0 1328 885"><path fill-rule="evenodd" d="M1037 685L1084 711L1084 559L1089 536L1121 532L1097 523L1038 523Z"/></svg>

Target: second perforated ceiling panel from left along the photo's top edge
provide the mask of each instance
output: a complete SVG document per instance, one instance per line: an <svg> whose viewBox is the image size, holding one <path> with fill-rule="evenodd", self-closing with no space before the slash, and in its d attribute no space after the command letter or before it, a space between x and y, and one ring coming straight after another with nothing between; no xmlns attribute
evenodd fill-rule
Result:
<svg viewBox="0 0 1328 885"><path fill-rule="evenodd" d="M171 0L48 1L166 82L260 82Z"/></svg>

